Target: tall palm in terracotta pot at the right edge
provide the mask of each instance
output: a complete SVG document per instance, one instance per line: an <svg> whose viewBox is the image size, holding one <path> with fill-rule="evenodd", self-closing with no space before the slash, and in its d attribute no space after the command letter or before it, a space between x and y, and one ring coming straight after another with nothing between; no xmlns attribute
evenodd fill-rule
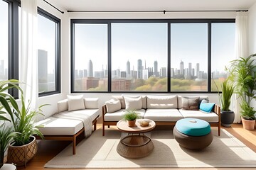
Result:
<svg viewBox="0 0 256 170"><path fill-rule="evenodd" d="M235 93L241 98L240 113L243 128L253 130L255 128L255 109L251 106L256 98L256 54L247 58L240 57L231 61L230 77L235 86Z"/></svg>

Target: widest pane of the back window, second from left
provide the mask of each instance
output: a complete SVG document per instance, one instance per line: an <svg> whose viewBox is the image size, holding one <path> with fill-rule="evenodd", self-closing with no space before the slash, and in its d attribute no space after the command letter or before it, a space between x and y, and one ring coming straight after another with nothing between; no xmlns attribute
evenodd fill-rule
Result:
<svg viewBox="0 0 256 170"><path fill-rule="evenodd" d="M167 23L112 23L111 91L167 91Z"/></svg>

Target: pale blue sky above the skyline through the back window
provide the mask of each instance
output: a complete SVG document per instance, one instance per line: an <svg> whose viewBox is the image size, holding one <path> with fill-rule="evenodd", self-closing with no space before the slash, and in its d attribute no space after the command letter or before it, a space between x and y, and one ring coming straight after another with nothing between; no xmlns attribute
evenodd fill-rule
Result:
<svg viewBox="0 0 256 170"><path fill-rule="evenodd" d="M171 24L171 67L179 69L181 60L184 68L188 62L192 67L200 64L207 72L208 24ZM212 62L212 69L224 71L225 64L234 56L235 24L212 26L212 55L220 62ZM126 69L129 60L131 69L137 70L137 60L144 66L158 69L167 67L167 24L166 23L112 23L112 69ZM107 25L75 24L75 69L87 69L92 60L94 71L107 65ZM217 61L214 60L214 61Z"/></svg>

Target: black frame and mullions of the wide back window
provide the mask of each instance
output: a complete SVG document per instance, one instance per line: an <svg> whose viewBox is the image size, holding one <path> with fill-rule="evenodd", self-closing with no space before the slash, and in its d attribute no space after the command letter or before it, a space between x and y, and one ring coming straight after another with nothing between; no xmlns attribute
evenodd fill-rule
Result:
<svg viewBox="0 0 256 170"><path fill-rule="evenodd" d="M74 90L74 75L75 75L75 23L85 23L85 24L92 24L92 23L102 23L108 25L108 88L107 91L75 91ZM168 68L167 68L167 91L112 91L111 84L112 84L112 66L111 66L111 24L112 23L168 23ZM208 90L207 91L171 91L171 23L207 23L208 24ZM212 23L235 23L235 19L102 19L102 20L93 20L93 19L71 19L70 20L70 45L71 45L71 93L112 93L112 94L120 94L120 93L128 93L128 94L141 94L148 93L148 94L216 94L216 91L211 91L211 24Z"/></svg>

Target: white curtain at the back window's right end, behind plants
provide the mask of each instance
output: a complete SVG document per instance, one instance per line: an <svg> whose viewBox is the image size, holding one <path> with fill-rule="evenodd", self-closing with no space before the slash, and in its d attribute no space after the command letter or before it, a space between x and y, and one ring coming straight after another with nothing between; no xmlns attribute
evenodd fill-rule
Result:
<svg viewBox="0 0 256 170"><path fill-rule="evenodd" d="M235 55L238 57L248 56L248 16L247 12L237 12L235 18ZM235 123L241 123L240 98L234 96Z"/></svg>

